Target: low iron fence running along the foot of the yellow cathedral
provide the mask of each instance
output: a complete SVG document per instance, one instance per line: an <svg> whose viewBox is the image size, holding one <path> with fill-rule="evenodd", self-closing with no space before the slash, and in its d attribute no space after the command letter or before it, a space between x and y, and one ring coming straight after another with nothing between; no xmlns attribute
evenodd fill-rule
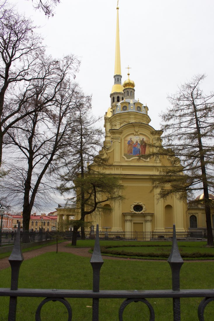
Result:
<svg viewBox="0 0 214 321"><path fill-rule="evenodd" d="M67 238L72 237L73 231L67 231L65 236ZM85 237L87 239L95 239L96 231L85 231ZM177 239L202 239L205 235L202 231L176 231ZM81 232L77 232L77 238L81 238ZM109 240L136 240L136 241L151 241L161 239L172 239L172 232L123 232L123 231L99 231L100 239Z"/></svg>

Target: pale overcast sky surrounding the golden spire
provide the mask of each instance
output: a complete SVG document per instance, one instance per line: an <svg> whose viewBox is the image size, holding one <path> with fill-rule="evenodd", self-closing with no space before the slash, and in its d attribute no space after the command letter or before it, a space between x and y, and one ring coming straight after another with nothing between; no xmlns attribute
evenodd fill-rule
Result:
<svg viewBox="0 0 214 321"><path fill-rule="evenodd" d="M10 2L40 25L47 53L81 58L76 80L93 95L94 114L103 116L113 85L117 0L61 0L49 19L35 12L31 0ZM119 7L122 81L129 65L135 98L147 103L150 125L159 129L167 93L179 84L206 73L202 88L213 90L214 1L119 0Z"/></svg>

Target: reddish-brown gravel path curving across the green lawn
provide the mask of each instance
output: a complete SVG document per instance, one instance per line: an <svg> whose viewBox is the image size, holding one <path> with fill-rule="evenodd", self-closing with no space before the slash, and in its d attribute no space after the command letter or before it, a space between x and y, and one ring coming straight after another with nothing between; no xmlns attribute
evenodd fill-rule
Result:
<svg viewBox="0 0 214 321"><path fill-rule="evenodd" d="M66 247L67 244L69 244L71 241L65 241L58 244L58 252L66 252L66 253L72 253L78 256L84 256L84 257L91 257L91 253L88 253L89 247ZM45 247L41 247L35 250L31 250L28 252L24 252L23 256L25 260L31 259L32 257L38 256L43 253L47 252L55 252L56 251L56 244L54 245L48 245ZM129 259L129 258L123 258L123 257L113 257L113 256L103 256L104 259L110 259L110 260L131 260L131 261L158 261L158 262L165 262L166 260L142 260L142 259ZM203 260L203 261L184 261L184 262L210 262L213 260ZM7 267L10 267L10 263L8 261L8 257L5 257L3 259L0 259L0 270L5 269Z"/></svg>

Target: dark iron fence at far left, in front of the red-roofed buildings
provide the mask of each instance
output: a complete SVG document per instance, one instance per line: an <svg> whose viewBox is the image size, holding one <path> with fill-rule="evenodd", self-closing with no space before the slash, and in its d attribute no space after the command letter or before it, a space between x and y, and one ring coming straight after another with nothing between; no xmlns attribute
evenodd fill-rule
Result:
<svg viewBox="0 0 214 321"><path fill-rule="evenodd" d="M13 245L16 239L16 235L16 231L0 232L0 247ZM53 232L20 232L21 244L46 241L54 238L55 235Z"/></svg>

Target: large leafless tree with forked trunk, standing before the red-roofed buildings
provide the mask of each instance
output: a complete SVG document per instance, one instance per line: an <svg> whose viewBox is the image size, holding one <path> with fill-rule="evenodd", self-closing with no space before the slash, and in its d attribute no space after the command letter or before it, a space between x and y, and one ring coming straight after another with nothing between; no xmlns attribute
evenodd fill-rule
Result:
<svg viewBox="0 0 214 321"><path fill-rule="evenodd" d="M38 198L47 199L53 191L50 180L59 166L58 152L64 148L64 137L70 131L70 119L76 105L82 99L82 93L76 83L65 75L76 70L79 61L67 56L61 61L49 61L55 66L55 72L34 82L34 87L23 108L29 105L34 113L22 118L8 131L8 152L13 146L13 166L4 185L10 196L23 202L23 230L29 229L30 214ZM47 78L46 78L47 76ZM14 149L15 147L15 149ZM14 153L16 152L16 154ZM38 201L37 201L38 202Z"/></svg>

